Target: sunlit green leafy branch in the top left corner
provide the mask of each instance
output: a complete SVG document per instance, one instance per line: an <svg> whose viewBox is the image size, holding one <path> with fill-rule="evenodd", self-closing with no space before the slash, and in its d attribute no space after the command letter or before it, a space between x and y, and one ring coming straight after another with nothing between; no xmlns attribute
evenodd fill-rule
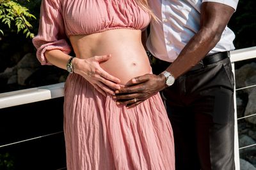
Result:
<svg viewBox="0 0 256 170"><path fill-rule="evenodd" d="M14 22L17 33L23 31L26 38L33 38L35 34L30 31L32 25L29 23L29 20L32 19L36 19L36 17L29 13L28 8L19 4L17 0L0 0L0 21L8 25L9 29ZM0 33L4 34L1 28Z"/></svg>

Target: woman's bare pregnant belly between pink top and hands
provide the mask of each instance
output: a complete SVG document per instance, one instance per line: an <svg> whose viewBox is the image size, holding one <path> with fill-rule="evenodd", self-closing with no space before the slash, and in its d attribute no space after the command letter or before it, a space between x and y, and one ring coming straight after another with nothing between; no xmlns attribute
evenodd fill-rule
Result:
<svg viewBox="0 0 256 170"><path fill-rule="evenodd" d="M122 85L127 85L136 76L151 73L147 53L141 44L140 32L118 29L99 34L99 38L81 37L76 45L72 43L79 58L111 54L111 58L101 62L100 66L119 78Z"/></svg>

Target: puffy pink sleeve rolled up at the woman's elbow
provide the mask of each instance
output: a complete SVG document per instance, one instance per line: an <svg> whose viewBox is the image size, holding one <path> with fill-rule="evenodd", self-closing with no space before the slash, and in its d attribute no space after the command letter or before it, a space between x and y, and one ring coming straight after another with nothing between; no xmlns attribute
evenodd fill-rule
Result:
<svg viewBox="0 0 256 170"><path fill-rule="evenodd" d="M42 65L51 65L45 58L46 50L61 50L67 54L71 52L59 0L42 0L38 34L32 42L36 48L36 57Z"/></svg>

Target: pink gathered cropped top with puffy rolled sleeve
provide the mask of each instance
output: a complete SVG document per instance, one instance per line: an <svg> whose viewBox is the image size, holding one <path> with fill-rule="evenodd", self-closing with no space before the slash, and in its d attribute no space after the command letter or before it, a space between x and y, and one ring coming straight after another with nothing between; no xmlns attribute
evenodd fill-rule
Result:
<svg viewBox="0 0 256 170"><path fill-rule="evenodd" d="M150 15L135 0L42 0L38 34L33 38L42 65L46 50L70 53L68 37L109 29L144 29Z"/></svg>

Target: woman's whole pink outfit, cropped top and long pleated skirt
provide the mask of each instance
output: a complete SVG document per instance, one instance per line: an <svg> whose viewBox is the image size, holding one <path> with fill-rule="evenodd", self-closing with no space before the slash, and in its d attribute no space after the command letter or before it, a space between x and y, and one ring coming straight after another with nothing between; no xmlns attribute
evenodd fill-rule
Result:
<svg viewBox="0 0 256 170"><path fill-rule="evenodd" d="M43 0L33 44L41 64L49 64L45 50L69 53L70 35L144 29L149 22L135 0ZM159 93L127 110L73 73L64 97L68 170L175 169L172 127Z"/></svg>

